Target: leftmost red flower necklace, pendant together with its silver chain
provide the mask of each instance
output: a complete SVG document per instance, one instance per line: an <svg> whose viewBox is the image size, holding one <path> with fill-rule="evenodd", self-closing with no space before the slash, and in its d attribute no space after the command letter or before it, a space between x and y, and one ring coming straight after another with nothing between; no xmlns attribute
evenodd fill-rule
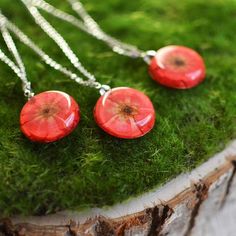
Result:
<svg viewBox="0 0 236 236"><path fill-rule="evenodd" d="M32 141L44 143L57 141L71 133L79 123L79 106L71 96L60 91L46 91L34 95L9 28L11 30L9 21L0 13L0 30L15 62L1 49L0 60L21 79L24 94L28 98L20 113L20 128Z"/></svg>

